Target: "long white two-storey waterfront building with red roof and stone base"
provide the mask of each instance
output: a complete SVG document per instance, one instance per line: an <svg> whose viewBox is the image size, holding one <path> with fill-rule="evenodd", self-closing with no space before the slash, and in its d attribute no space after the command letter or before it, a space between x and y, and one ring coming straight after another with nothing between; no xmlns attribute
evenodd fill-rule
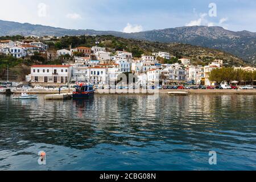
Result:
<svg viewBox="0 0 256 182"><path fill-rule="evenodd" d="M67 83L71 80L71 65L33 65L31 80L48 83Z"/></svg>

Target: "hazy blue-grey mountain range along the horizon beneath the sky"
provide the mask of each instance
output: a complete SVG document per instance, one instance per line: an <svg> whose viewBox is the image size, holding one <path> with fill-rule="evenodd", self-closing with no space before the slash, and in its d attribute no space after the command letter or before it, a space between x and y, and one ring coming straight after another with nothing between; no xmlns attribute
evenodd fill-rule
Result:
<svg viewBox="0 0 256 182"><path fill-rule="evenodd" d="M0 20L0 36L7 35L113 35L121 38L147 40L151 42L183 43L220 49L221 51L241 57L247 63L256 64L256 33L249 31L235 32L222 27L177 27L129 34L118 31L70 30L39 24Z"/></svg>

